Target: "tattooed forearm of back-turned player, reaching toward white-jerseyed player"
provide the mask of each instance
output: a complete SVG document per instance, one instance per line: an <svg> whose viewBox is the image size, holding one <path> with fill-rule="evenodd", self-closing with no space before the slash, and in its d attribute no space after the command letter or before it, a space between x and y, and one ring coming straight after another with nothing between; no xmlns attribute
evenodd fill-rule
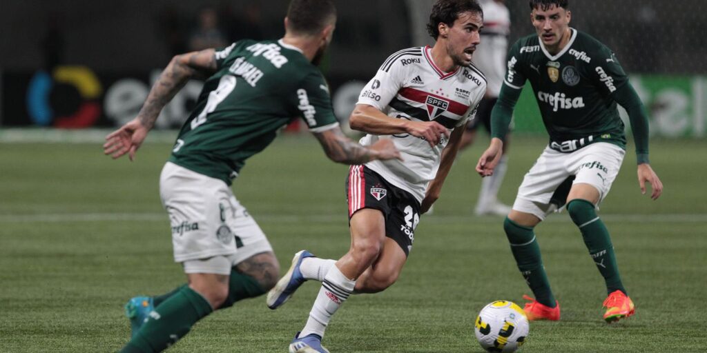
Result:
<svg viewBox="0 0 707 353"><path fill-rule="evenodd" d="M370 146L364 146L351 140L341 132L338 126L327 131L314 133L327 157L343 164L363 164L372 160L402 160L400 152L391 140L379 140Z"/></svg>

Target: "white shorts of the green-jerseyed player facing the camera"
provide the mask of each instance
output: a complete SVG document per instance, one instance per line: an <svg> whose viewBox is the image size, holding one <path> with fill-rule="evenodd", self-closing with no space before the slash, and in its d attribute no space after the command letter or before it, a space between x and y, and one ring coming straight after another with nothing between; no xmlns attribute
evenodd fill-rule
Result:
<svg viewBox="0 0 707 353"><path fill-rule="evenodd" d="M573 184L594 186L602 201L621 169L626 151L612 143L597 142L571 153L546 147L518 188L513 210L535 215L540 220L552 212L550 198L571 175Z"/></svg>

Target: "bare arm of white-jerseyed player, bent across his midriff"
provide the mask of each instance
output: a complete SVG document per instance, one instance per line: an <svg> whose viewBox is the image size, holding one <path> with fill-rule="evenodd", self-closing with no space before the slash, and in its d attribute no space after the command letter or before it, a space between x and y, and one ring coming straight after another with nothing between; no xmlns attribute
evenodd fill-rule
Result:
<svg viewBox="0 0 707 353"><path fill-rule="evenodd" d="M354 130L373 135L409 133L412 136L424 138L431 147L436 146L442 136L449 138L447 128L436 121L395 119L368 104L356 104L354 112L351 112L349 125Z"/></svg>

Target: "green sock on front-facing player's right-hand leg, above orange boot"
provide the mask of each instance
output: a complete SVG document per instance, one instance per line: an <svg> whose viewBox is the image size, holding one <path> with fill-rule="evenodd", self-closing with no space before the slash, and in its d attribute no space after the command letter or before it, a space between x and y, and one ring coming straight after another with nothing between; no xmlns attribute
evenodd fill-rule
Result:
<svg viewBox="0 0 707 353"><path fill-rule="evenodd" d="M621 283L621 276L619 276L612 239L609 237L609 231L604 226L604 222L597 216L594 204L586 200L575 199L567 204L567 211L582 232L584 244L589 249L589 255L594 259L607 284L607 292L612 293L620 290L627 294Z"/></svg>

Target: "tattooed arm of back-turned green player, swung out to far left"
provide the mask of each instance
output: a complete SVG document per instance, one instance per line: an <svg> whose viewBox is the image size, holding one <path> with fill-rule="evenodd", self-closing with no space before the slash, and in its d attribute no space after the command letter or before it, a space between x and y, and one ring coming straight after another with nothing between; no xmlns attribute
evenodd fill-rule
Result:
<svg viewBox="0 0 707 353"><path fill-rule="evenodd" d="M130 160L155 126L162 109L191 78L206 78L216 72L214 49L177 55L172 58L152 86L136 118L105 137L103 152L113 159L128 154Z"/></svg>

